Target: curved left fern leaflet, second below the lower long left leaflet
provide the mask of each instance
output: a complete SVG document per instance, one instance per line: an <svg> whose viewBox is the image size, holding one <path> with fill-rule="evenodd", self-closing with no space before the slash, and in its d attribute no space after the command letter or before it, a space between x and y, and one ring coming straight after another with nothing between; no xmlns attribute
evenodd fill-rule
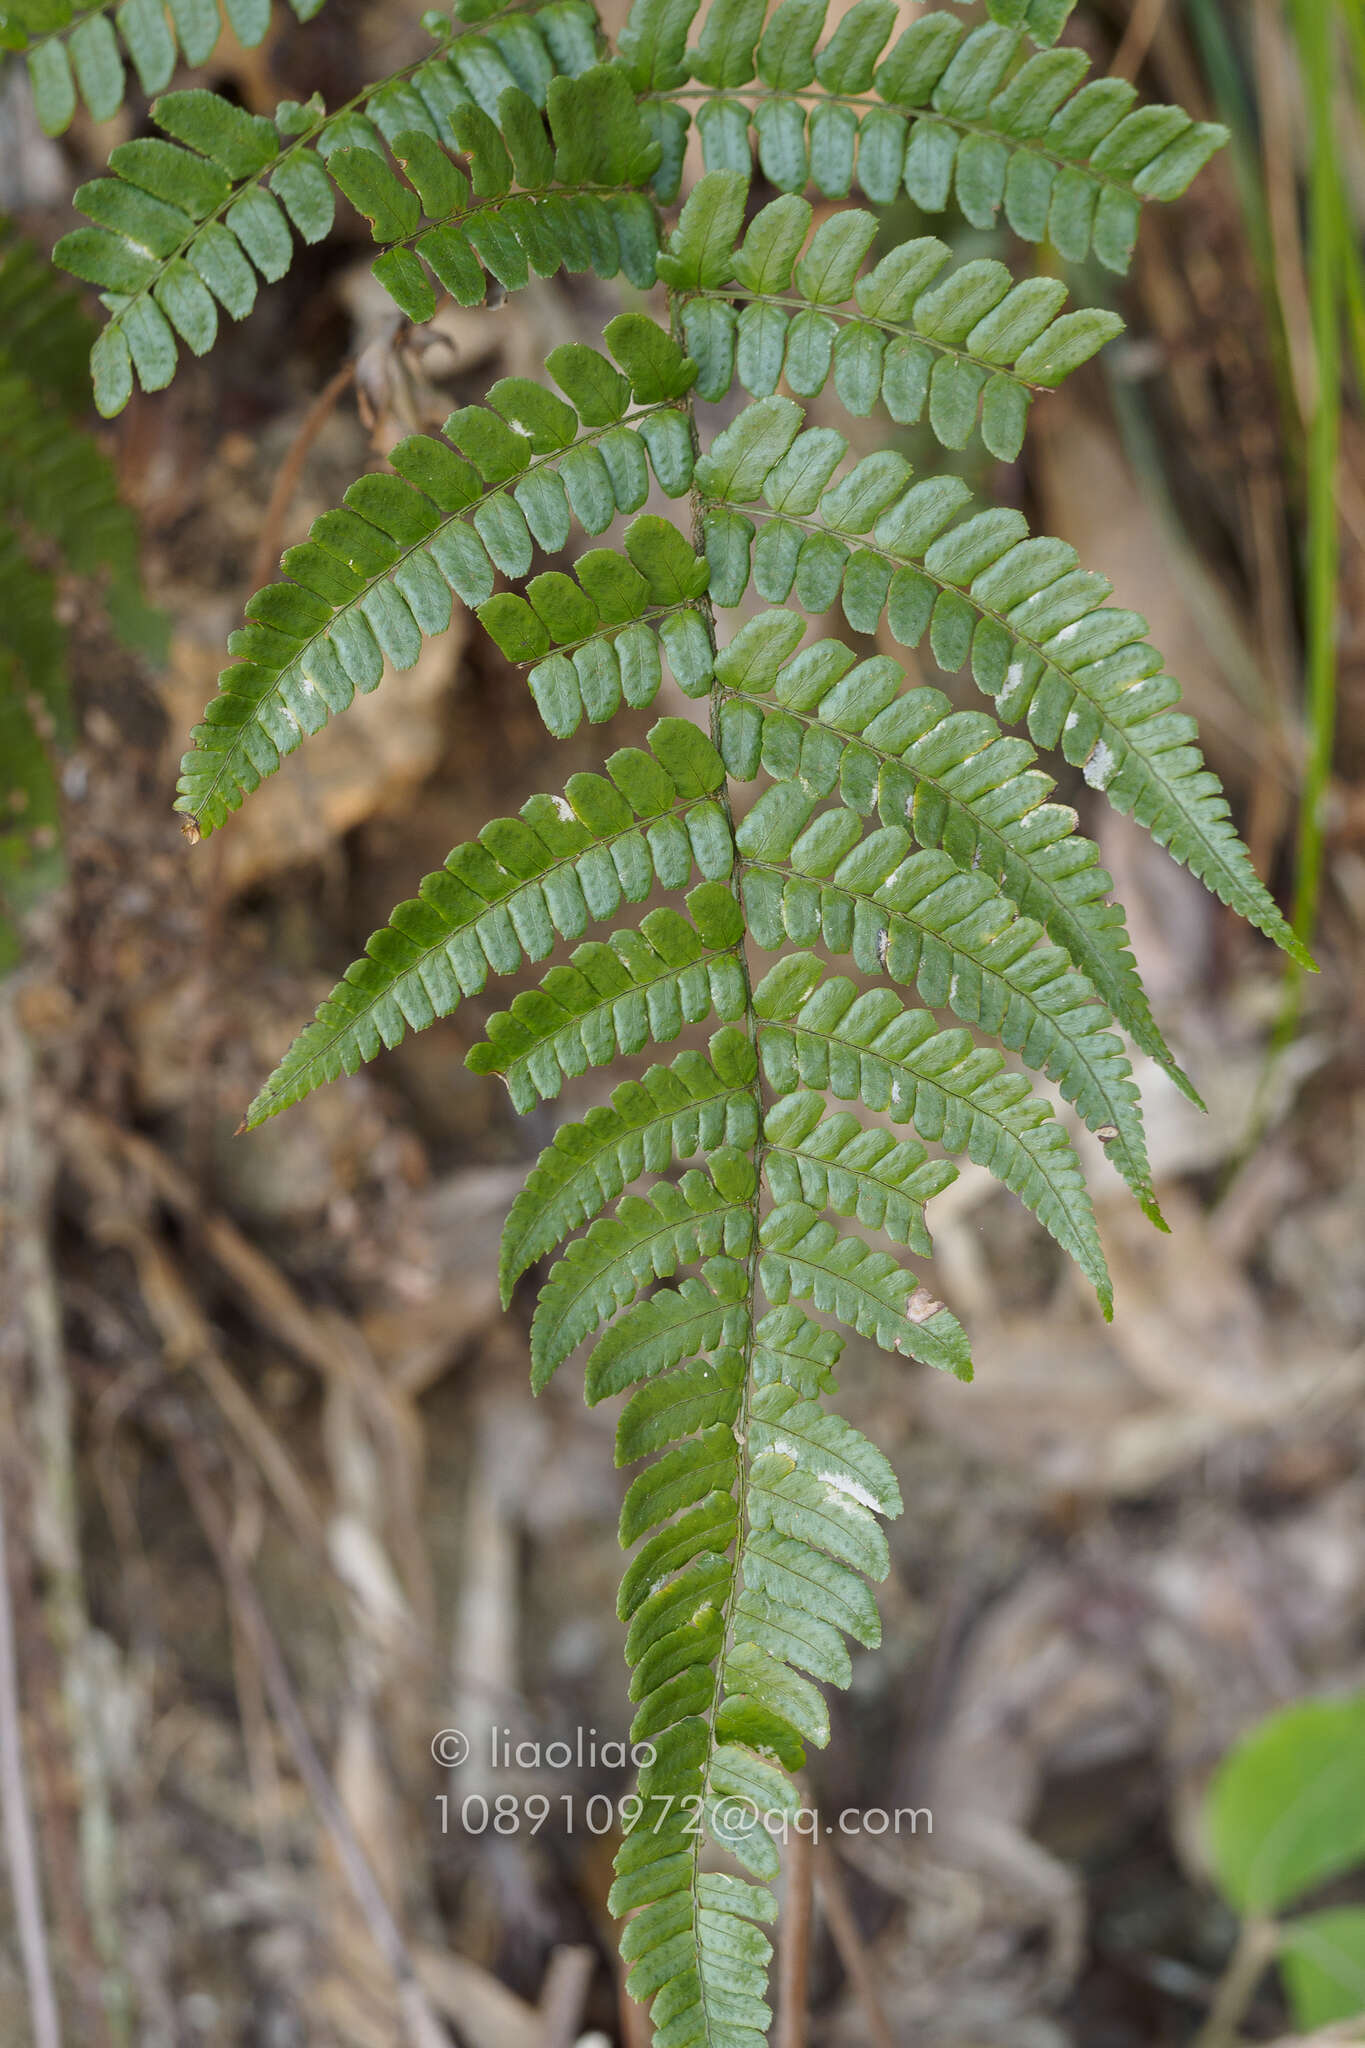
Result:
<svg viewBox="0 0 1365 2048"><path fill-rule="evenodd" d="M612 1090L610 1108L596 1104L583 1122L561 1124L508 1212L497 1268L503 1305L536 1260L643 1174L718 1145L753 1151L757 1055L731 1024L712 1034L708 1055L686 1051L649 1067Z"/></svg>

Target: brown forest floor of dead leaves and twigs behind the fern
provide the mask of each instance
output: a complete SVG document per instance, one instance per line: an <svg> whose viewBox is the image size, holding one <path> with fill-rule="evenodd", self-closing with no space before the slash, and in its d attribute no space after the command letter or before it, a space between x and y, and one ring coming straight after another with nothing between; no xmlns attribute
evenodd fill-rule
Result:
<svg viewBox="0 0 1365 2048"><path fill-rule="evenodd" d="M1083 12L1107 63L1117 35ZM313 86L334 102L417 37L395 4L332 0L262 51L221 51L213 82L260 111ZM1142 55L1148 92L1203 111L1179 10ZM6 203L35 238L68 225L76 182L137 119L23 137ZM1023 465L976 481L1150 616L1283 899L1300 444L1228 166L1152 211L1111 371L1044 401ZM96 1991L108 1927L147 2048L385 2048L387 1929L469 2048L641 2040L606 1917L602 1817L628 1778L587 1745L579 1763L575 1733L626 1729L614 1415L587 1411L569 1370L532 1403L528 1296L503 1317L495 1294L501 1219L553 1120L516 1118L465 1071L487 1008L471 1004L233 1137L389 907L489 815L620 739L553 743L456 618L211 842L190 848L170 809L264 580L264 506L327 379L356 358L360 399L346 389L307 451L284 543L401 432L495 375L534 375L569 332L593 340L616 303L561 279L397 334L352 221L106 436L172 653L139 668L98 616L76 621L70 887L0 1034L23 1200L0 1458L10 1516L33 1528L10 1575L70 2038L90 2048L117 2038ZM884 1647L831 1702L808 1796L825 1817L917 1806L933 1823L821 1843L812 2048L876 2038L860 1966L894 2042L1193 2040L1236 1933L1207 1882L1207 1776L1273 1706L1365 1681L1365 461L1359 422L1349 434L1342 745L1297 1040L1267 1079L1281 961L1066 786L1209 1104L1199 1116L1140 1075L1171 1235L1095 1149L1105 1327L1033 1221L966 1167L931 1225L976 1384L860 1343L843 1360L845 1409L888 1452L907 1513ZM432 1739L456 1726L473 1753L440 1767ZM567 1739L575 1761L495 1765L493 1729ZM499 1794L522 1802L516 1831L479 1825ZM532 1794L548 1804L534 1833ZM346 1837L387 1917L356 1905ZM23 2013L0 1942L0 2048L27 2038ZM1246 2038L1281 2032L1267 1978Z"/></svg>

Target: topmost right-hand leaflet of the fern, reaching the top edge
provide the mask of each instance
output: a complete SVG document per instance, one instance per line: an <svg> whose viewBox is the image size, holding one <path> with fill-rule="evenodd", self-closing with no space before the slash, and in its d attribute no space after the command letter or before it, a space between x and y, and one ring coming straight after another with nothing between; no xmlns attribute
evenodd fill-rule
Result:
<svg viewBox="0 0 1365 2048"><path fill-rule="evenodd" d="M1033 8L1040 41L1060 33L1050 0ZM923 14L884 57L896 20L888 0L857 0L819 51L819 0L782 0L767 23L749 0L710 0L688 47L696 12L694 0L634 0L618 39L657 106L663 201L677 197L696 119L706 170L747 174L757 150L782 193L814 184L845 199L857 182L878 205L905 190L925 213L956 197L972 227L995 227L1003 209L1023 242L1046 238L1070 262L1093 248L1124 272L1142 203L1177 199L1228 139L1179 106L1134 106L1124 80L1083 82L1078 49L1019 61L1017 0L997 0L997 20L970 31Z"/></svg>

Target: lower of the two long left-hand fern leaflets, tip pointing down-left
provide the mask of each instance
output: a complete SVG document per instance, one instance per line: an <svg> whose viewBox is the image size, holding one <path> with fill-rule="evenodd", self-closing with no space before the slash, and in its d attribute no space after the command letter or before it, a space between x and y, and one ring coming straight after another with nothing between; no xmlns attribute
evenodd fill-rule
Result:
<svg viewBox="0 0 1365 2048"><path fill-rule="evenodd" d="M446 854L299 1032L246 1128L450 1016L489 975L542 961L557 938L583 938L622 903L643 903L655 883L684 889L694 866L708 881L731 872L714 803L724 770L696 725L661 719L649 752L620 748L606 772L571 776L563 797L528 797L520 817L497 817Z"/></svg>

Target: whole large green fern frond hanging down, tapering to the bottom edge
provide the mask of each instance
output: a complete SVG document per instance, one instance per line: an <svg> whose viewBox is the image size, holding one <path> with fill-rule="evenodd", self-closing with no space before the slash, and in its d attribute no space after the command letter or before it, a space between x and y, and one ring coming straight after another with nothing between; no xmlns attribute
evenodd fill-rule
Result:
<svg viewBox="0 0 1365 2048"><path fill-rule="evenodd" d="M501 1260L510 1300L559 1251L532 1382L591 1343L587 1399L626 1397L618 1460L641 1466L620 1620L655 1761L612 1905L661 2048L765 2036L774 1817L794 1808L804 1745L827 1741L821 1683L849 1681L849 1638L878 1640L868 1581L900 1497L829 1407L829 1323L970 1378L962 1327L913 1266L960 1155L1036 1212L1109 1313L1081 1165L1029 1075L1160 1223L1121 1034L1193 1090L1033 748L1297 950L1144 621L1019 512L823 424L833 393L853 420L890 420L872 442L923 420L950 451L978 434L1011 461L1029 406L1119 322L935 236L886 246L860 205L817 223L806 186L927 213L956 199L976 227L1003 213L1025 242L1124 270L1142 201L1179 195L1222 131L1087 82L1085 55L1054 47L1070 0L988 0L974 29L941 6L894 41L892 0L855 0L829 37L825 8L710 0L698 25L698 0L636 0L610 53L583 0L553 0L428 16L436 51L334 115L268 123L178 92L153 109L166 139L123 143L84 190L94 225L61 252L108 293L106 412L133 375L174 375L176 338L211 344L215 301L248 311L252 264L289 266L291 223L325 233L334 188L411 319L438 293L483 299L489 274L516 291L591 268L655 291L602 348L555 348L544 383L503 379L440 436L401 440L289 549L229 641L178 805L190 836L219 829L456 602L555 735L649 711L665 670L696 705L456 846L246 1118L561 942L469 1055L518 1110L700 1026L559 1130ZM706 170L673 219L694 123ZM845 629L927 641L988 709ZM1027 739L1005 731L1019 725Z"/></svg>

